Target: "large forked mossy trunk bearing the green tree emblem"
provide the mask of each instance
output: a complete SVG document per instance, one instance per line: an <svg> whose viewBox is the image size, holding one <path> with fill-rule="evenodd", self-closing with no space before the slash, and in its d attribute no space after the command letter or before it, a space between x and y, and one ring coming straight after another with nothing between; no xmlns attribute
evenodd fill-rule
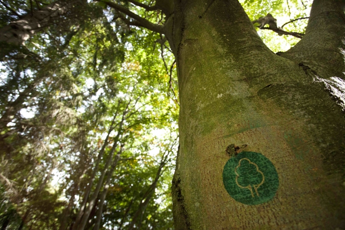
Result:
<svg viewBox="0 0 345 230"><path fill-rule="evenodd" d="M175 1L176 229L345 227L344 112L315 81L343 78L344 5L315 0L306 35L279 56L238 1Z"/></svg>

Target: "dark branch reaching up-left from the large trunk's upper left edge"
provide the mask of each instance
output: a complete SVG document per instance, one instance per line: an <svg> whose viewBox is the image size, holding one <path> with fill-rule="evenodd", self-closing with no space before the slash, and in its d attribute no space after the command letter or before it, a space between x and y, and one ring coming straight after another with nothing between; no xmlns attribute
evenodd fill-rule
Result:
<svg viewBox="0 0 345 230"><path fill-rule="evenodd" d="M99 1L99 2L103 2L103 1ZM139 15L133 13L132 11L130 11L130 10L118 5L118 4L111 3L111 2L103 2L103 3L105 3L106 5L108 5L109 7L113 8L113 9L116 9L116 10L120 11L121 13L124 13L127 16L133 18L135 20L135 22L127 21L128 23L130 23L130 25L141 26L141 27L147 28L150 31L157 32L159 34L164 34L164 26L154 24L154 23L146 20L145 18L140 17Z"/></svg>

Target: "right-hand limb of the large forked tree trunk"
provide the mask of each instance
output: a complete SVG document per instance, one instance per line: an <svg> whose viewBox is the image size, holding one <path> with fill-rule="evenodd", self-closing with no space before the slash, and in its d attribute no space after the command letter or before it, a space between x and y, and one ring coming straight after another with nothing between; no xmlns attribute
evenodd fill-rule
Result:
<svg viewBox="0 0 345 230"><path fill-rule="evenodd" d="M305 36L283 57L309 66L324 78L344 78L344 1L314 1Z"/></svg>

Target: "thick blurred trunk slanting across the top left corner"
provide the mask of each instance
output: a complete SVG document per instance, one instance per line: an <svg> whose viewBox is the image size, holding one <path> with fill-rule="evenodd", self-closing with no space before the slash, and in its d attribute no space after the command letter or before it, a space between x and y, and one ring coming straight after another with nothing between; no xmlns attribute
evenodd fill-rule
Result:
<svg viewBox="0 0 345 230"><path fill-rule="evenodd" d="M68 11L72 2L56 1L41 10L27 14L11 22L9 25L0 28L0 42L23 45L31 36L50 25L55 18Z"/></svg>

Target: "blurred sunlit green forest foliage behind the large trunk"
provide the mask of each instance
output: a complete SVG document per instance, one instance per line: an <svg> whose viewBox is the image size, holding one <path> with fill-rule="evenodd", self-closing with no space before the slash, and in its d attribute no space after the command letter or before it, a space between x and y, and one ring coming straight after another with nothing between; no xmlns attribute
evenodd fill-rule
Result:
<svg viewBox="0 0 345 230"><path fill-rule="evenodd" d="M151 22L146 12L117 1ZM153 4L151 1L141 1ZM0 0L0 27L51 4ZM24 45L2 43L1 229L173 229L178 84L167 42L75 1ZM241 0L251 20L307 17L309 0ZM307 20L284 30L304 33ZM299 39L258 31L274 51Z"/></svg>

